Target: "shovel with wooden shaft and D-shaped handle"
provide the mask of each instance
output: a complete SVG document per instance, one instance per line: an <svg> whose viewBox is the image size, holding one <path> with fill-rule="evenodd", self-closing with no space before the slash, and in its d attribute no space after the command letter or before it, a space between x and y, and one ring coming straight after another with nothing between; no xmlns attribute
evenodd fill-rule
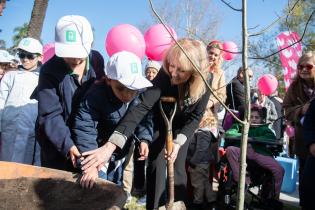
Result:
<svg viewBox="0 0 315 210"><path fill-rule="evenodd" d="M173 110L170 113L170 118L168 118L164 112L162 103L173 103ZM160 110L163 116L167 134L166 134L166 152L169 156L173 150L173 132L172 132L172 122L176 112L176 99L174 97L161 97L160 98ZM174 162L167 160L167 181L168 181L168 196L166 202L166 209L172 210L174 205Z"/></svg>

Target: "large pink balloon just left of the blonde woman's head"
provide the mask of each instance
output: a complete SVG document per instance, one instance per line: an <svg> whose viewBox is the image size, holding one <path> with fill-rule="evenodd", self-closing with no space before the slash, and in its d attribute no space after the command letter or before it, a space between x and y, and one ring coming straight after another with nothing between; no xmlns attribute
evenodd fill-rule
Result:
<svg viewBox="0 0 315 210"><path fill-rule="evenodd" d="M175 30L167 26L171 34L177 39ZM173 44L173 39L162 24L151 26L144 34L146 44L145 54L150 60L161 61L166 50Z"/></svg>

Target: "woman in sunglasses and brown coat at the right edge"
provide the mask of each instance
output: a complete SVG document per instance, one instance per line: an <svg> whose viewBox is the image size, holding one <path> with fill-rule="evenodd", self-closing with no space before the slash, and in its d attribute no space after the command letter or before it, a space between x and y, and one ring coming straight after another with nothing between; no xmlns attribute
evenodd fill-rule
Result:
<svg viewBox="0 0 315 210"><path fill-rule="evenodd" d="M286 120L295 129L294 152L299 159L299 181L308 154L303 143L302 119L315 97L315 53L306 52L301 56L297 65L297 74L290 85L284 100L283 108ZM301 182L300 182L301 183Z"/></svg>

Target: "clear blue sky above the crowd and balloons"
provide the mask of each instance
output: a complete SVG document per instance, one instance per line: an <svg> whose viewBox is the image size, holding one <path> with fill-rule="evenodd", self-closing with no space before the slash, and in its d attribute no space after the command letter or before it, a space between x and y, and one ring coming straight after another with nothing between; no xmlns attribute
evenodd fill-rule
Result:
<svg viewBox="0 0 315 210"><path fill-rule="evenodd" d="M33 2L33 0L7 2L7 8L0 17L2 29L0 39L6 41L7 47L12 46L13 29L30 20ZM160 1L152 2L158 4ZM241 13L230 9L220 0L212 2L221 18L218 37L214 39L240 43ZM227 2L231 2L235 8L241 8L241 0ZM248 27L255 27L255 32L260 31L281 14L286 2L287 0L248 0ZM82 15L90 21L95 29L94 49L101 52L105 59L108 58L105 38L112 27L123 23L137 26L145 20L152 19L148 0L50 0L41 35L44 44L54 40L54 27L58 19L69 14Z"/></svg>

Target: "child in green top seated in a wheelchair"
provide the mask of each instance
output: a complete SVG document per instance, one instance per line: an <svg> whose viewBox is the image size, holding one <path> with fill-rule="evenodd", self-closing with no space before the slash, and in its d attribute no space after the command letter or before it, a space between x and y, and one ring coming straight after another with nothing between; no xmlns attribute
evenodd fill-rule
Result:
<svg viewBox="0 0 315 210"><path fill-rule="evenodd" d="M255 179L256 183L252 183L251 177L247 176L246 185L248 187L250 185L257 184L256 180L258 180L258 178L262 178L259 176L264 176L269 173L273 180L272 186L268 188L268 192L264 192L263 197L264 199L267 199L269 201L276 201L277 203L280 196L284 169L274 159L272 151L270 150L270 148L268 148L268 145L276 145L276 136L274 131L270 129L268 125L263 124L265 122L265 116L265 108L259 106L253 106L251 108L251 125L248 133L249 142L246 156L248 163L247 169L252 170L252 174L255 172L257 173L255 173L254 177L252 177L252 179ZM239 179L240 138L237 137L241 137L241 130L242 126L238 123L234 123L232 127L225 132L225 158L231 169L232 173L230 174L235 183L237 183ZM233 139L238 139L238 141L233 141L232 143L231 140ZM263 186L262 188L267 189L266 186Z"/></svg>

